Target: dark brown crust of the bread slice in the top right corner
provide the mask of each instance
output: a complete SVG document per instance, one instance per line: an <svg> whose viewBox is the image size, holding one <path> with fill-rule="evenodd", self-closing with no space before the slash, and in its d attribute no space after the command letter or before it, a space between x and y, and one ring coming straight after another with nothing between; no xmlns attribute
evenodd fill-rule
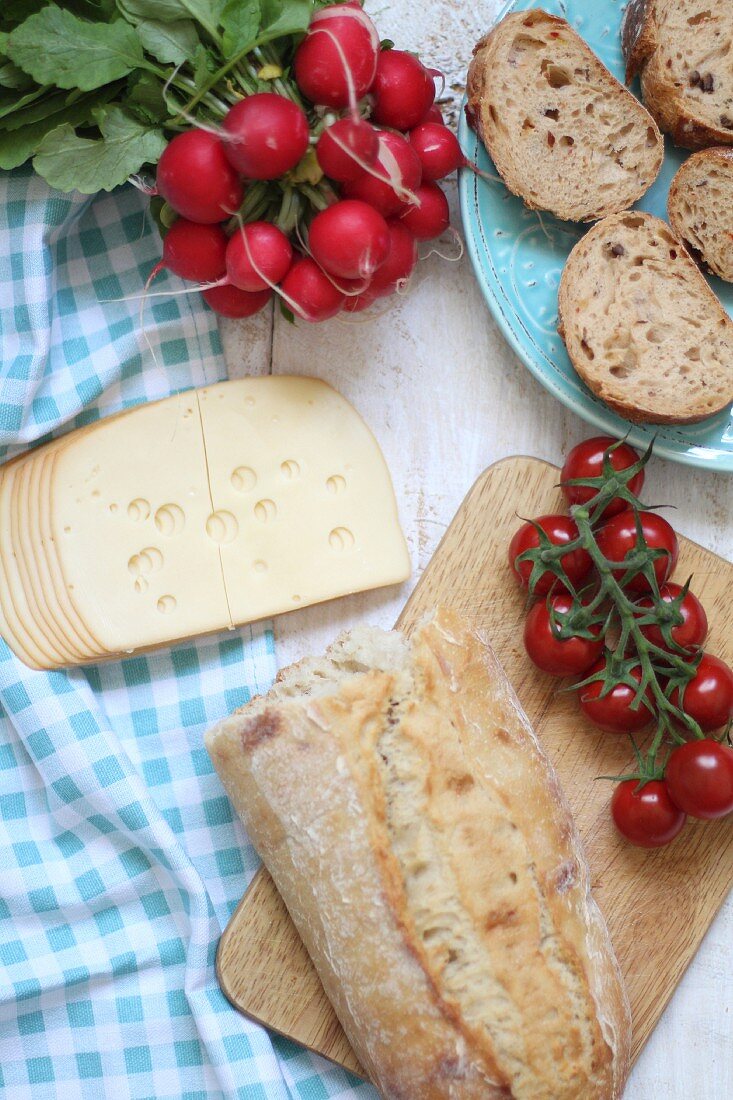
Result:
<svg viewBox="0 0 733 1100"><path fill-rule="evenodd" d="M685 0L679 0L680 6ZM641 77L642 99L659 129L681 148L733 144L730 128L711 125L690 110L678 82L670 79L660 54L661 29L657 0L631 0L624 14L621 44L626 61L626 82ZM683 43L680 43L683 46Z"/></svg>

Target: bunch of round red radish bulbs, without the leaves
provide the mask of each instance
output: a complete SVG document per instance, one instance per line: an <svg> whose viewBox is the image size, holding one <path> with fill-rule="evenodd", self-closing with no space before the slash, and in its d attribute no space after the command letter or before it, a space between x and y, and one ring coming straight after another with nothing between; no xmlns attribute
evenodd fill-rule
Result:
<svg viewBox="0 0 733 1100"><path fill-rule="evenodd" d="M277 295L324 321L401 290L418 242L448 229L438 180L466 163L434 102L439 74L382 45L358 3L318 10L292 51L263 67L272 90L177 133L157 165L155 273L200 284L225 317Z"/></svg>

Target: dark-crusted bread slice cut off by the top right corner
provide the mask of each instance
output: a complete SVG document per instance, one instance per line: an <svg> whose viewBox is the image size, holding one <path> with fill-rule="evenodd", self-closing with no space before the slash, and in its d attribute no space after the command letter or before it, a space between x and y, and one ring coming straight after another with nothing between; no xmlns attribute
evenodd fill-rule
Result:
<svg viewBox="0 0 733 1100"><path fill-rule="evenodd" d="M677 145L733 143L731 0L631 0L622 26L626 80Z"/></svg>

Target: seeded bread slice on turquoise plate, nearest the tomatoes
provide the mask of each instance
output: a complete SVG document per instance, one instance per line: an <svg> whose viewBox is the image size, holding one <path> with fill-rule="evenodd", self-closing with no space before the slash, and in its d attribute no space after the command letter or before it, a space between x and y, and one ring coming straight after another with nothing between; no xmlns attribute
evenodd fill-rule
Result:
<svg viewBox="0 0 733 1100"><path fill-rule="evenodd" d="M666 222L612 215L562 272L558 331L583 382L639 424L693 424L733 400L733 322Z"/></svg>

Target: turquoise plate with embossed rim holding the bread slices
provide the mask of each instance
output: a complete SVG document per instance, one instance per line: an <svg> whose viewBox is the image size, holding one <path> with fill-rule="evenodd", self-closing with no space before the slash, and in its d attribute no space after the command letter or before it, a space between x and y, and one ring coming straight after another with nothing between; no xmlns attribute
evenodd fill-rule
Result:
<svg viewBox="0 0 733 1100"><path fill-rule="evenodd" d="M502 14L536 7L539 4L533 0L515 0ZM543 0L541 7L566 18L623 80L622 0L593 0L592 4L588 0ZM463 112L459 136L467 156L495 174ZM637 204L642 210L666 217L669 184L683 156L667 143L661 172ZM631 441L641 447L656 436L657 454L707 470L733 472L730 409L683 428L632 426L594 397L573 371L556 330L557 288L568 253L588 227L559 221L549 213L540 219L501 180L488 182L472 172L461 172L459 191L466 243L479 285L502 332L541 384L578 416L613 436L628 432ZM733 284L716 278L710 283L733 316Z"/></svg>

